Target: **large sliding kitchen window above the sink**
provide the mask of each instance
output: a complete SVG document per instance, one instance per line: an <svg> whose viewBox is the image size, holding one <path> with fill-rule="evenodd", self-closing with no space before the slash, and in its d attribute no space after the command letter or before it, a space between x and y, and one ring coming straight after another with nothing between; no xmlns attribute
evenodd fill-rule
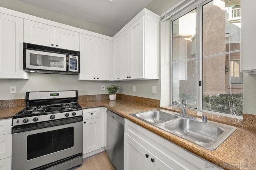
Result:
<svg viewBox="0 0 256 170"><path fill-rule="evenodd" d="M171 100L185 97L191 109L242 116L241 21L230 18L234 18L234 7L240 7L240 0L232 4L228 0L182 2L179 10L168 13L172 32ZM240 17L240 12L236 16Z"/></svg>

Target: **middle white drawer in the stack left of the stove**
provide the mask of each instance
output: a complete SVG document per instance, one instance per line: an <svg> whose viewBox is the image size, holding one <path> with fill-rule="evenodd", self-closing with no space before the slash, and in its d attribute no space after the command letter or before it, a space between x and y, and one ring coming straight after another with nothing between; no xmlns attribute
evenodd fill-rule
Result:
<svg viewBox="0 0 256 170"><path fill-rule="evenodd" d="M0 135L0 159L12 156L12 134Z"/></svg>

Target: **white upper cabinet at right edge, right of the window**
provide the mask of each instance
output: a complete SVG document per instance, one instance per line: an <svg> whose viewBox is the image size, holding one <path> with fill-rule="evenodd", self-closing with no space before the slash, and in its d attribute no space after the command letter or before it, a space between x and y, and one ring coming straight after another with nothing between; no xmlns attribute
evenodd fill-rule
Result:
<svg viewBox="0 0 256 170"><path fill-rule="evenodd" d="M255 12L252 12L255 5L256 1L241 0L241 71L249 74L256 74L256 21L249 19L256 17Z"/></svg>

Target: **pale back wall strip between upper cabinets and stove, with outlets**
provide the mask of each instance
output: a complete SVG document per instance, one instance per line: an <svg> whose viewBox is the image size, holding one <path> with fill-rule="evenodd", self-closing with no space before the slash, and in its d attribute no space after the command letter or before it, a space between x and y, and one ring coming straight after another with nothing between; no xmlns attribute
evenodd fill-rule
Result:
<svg viewBox="0 0 256 170"><path fill-rule="evenodd" d="M107 87L116 82L81 81L77 75L29 74L29 80L0 80L0 100L24 99L26 92L78 90L78 95L108 94ZM101 85L105 85L104 91ZM16 86L17 93L10 94L10 86Z"/></svg>

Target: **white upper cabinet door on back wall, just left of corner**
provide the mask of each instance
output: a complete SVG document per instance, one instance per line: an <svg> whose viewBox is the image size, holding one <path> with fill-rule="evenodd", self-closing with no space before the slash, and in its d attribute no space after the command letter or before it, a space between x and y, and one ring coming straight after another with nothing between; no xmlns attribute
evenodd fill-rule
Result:
<svg viewBox="0 0 256 170"><path fill-rule="evenodd" d="M110 43L112 41L96 38L96 79L110 80Z"/></svg>

